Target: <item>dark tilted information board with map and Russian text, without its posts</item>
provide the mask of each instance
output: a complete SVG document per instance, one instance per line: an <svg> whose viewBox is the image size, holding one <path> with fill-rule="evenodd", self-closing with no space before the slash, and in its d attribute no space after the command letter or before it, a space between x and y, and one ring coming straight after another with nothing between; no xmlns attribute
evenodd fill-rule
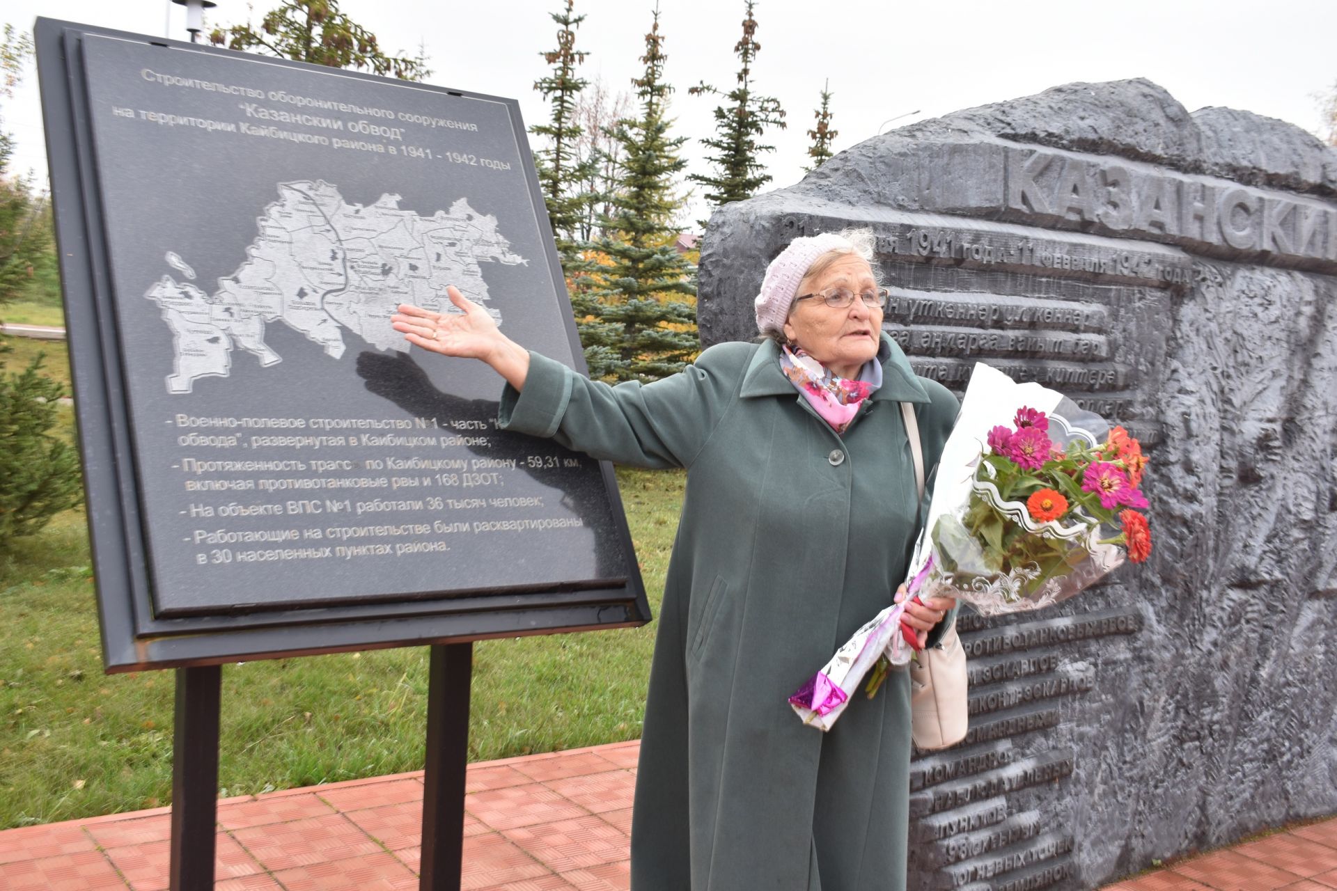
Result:
<svg viewBox="0 0 1337 891"><path fill-rule="evenodd" d="M37 35L108 668L648 620L610 468L390 327L583 370L513 100Z"/></svg>

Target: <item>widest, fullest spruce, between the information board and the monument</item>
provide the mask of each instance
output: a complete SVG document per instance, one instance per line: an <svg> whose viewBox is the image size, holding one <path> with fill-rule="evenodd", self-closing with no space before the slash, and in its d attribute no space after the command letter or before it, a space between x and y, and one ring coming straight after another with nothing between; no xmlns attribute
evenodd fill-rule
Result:
<svg viewBox="0 0 1337 891"><path fill-rule="evenodd" d="M666 118L671 87L663 80L667 56L659 33L659 9L646 35L644 72L632 80L640 102L638 119L619 120L620 147L612 211L599 220L608 232L598 242L606 263L592 287L575 297L580 339L590 375L610 381L651 381L679 371L699 347L691 267L674 242L674 174L686 136L670 136Z"/></svg>

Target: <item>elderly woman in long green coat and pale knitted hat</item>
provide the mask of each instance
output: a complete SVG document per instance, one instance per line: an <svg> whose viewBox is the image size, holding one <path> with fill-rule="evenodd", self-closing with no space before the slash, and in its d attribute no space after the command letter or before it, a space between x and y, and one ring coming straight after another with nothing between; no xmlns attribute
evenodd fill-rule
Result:
<svg viewBox="0 0 1337 891"><path fill-rule="evenodd" d="M910 689L893 672L824 735L787 697L900 597L919 498L898 402L937 462L956 398L881 331L872 234L794 239L755 301L759 343L608 386L460 314L402 306L397 331L507 381L500 423L596 458L687 468L636 775L636 891L905 886ZM908 610L928 644L955 601ZM944 617L947 621L944 621Z"/></svg>

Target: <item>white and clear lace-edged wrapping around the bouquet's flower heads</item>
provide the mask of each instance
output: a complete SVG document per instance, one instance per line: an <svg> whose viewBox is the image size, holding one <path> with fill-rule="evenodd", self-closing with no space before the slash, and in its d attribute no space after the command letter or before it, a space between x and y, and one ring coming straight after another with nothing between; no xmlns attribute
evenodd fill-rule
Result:
<svg viewBox="0 0 1337 891"><path fill-rule="evenodd" d="M1000 616L1067 600L1123 562L1124 549L1103 541L1116 537L1118 529L1083 521L1076 512L1036 522L1024 501L1005 501L992 484L991 468L981 461L989 430L1009 426L1023 407L1048 415L1050 441L1063 450L1074 442L1095 448L1110 433L1100 415L1062 393L1039 383L1016 383L976 363L943 449L924 529L910 558L912 593L955 597L983 616ZM988 548L964 522L976 500L987 501L1005 524L1020 526L1020 534L1043 540L1034 544L1043 548L1046 565L1013 561L1005 570L991 565Z"/></svg>

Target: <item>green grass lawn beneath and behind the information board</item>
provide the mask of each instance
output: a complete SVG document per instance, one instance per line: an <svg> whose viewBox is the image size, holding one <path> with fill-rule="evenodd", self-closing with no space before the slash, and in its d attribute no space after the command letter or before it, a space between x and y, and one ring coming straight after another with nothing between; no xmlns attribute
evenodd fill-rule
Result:
<svg viewBox="0 0 1337 891"><path fill-rule="evenodd" d="M658 614L686 477L618 480ZM170 801L172 672L103 675L88 565L80 512L0 554L0 828ZM639 737L654 632L476 644L471 759ZM420 769L427 661L420 647L226 665L219 793Z"/></svg>

